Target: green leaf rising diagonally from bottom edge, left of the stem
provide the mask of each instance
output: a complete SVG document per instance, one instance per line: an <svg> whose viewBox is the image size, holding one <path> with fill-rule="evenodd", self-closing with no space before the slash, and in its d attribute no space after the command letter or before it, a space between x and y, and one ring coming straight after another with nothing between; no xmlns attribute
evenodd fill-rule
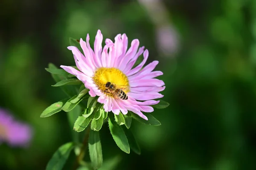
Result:
<svg viewBox="0 0 256 170"><path fill-rule="evenodd" d="M73 148L74 145L72 142L59 147L48 162L46 170L62 170Z"/></svg>

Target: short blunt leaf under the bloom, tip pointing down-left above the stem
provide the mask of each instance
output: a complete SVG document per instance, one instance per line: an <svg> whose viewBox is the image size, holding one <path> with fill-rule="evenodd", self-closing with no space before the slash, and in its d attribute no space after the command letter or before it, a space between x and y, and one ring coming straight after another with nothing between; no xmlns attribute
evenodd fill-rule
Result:
<svg viewBox="0 0 256 170"><path fill-rule="evenodd" d="M89 109L85 109L85 113L88 111ZM93 110L92 108L90 110ZM74 130L76 130L76 132L82 132L83 130L85 130L85 128L89 125L91 119L93 118L93 114L92 111L91 113L88 114L84 114L84 115L88 115L87 117L84 116L79 116L76 119L76 122L74 124Z"/></svg>

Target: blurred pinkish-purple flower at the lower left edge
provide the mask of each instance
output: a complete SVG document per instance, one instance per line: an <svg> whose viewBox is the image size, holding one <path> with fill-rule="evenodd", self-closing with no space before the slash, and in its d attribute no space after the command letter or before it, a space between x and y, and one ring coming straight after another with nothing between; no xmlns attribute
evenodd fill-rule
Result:
<svg viewBox="0 0 256 170"><path fill-rule="evenodd" d="M32 137L29 125L16 121L4 109L0 109L0 143L6 142L12 147L27 147Z"/></svg>

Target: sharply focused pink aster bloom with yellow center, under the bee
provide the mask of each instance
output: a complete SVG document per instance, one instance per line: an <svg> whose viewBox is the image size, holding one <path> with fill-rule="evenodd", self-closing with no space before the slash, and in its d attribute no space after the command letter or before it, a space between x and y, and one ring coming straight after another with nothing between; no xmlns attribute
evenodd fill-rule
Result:
<svg viewBox="0 0 256 170"><path fill-rule="evenodd" d="M92 97L99 96L98 102L104 104L106 112L112 111L119 115L127 114L128 110L136 113L140 117L148 120L142 112L153 112L150 105L159 103L154 99L162 98L159 92L165 89L164 82L155 77L163 75L163 72L153 71L158 61L153 61L143 67L148 59L148 50L144 46L139 48L139 40L135 39L128 48L128 38L125 34L116 35L115 42L106 39L106 45L102 49L103 36L98 30L95 41L94 51L90 47L89 35L86 42L80 39L82 54L75 46L67 47L72 51L76 66L61 66L64 70L75 75L84 86L89 89ZM134 66L140 55L143 54L143 61ZM109 91L106 84L110 82L127 95L127 100L114 95ZM122 88L123 87L123 88Z"/></svg>

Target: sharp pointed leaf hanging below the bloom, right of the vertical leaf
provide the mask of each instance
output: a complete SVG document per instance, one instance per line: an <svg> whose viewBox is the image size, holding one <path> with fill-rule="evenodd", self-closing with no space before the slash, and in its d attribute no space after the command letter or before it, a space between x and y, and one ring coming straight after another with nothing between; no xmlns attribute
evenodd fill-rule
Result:
<svg viewBox="0 0 256 170"><path fill-rule="evenodd" d="M108 125L117 146L125 153L130 153L130 146L122 127L114 121L113 115L108 118Z"/></svg>

